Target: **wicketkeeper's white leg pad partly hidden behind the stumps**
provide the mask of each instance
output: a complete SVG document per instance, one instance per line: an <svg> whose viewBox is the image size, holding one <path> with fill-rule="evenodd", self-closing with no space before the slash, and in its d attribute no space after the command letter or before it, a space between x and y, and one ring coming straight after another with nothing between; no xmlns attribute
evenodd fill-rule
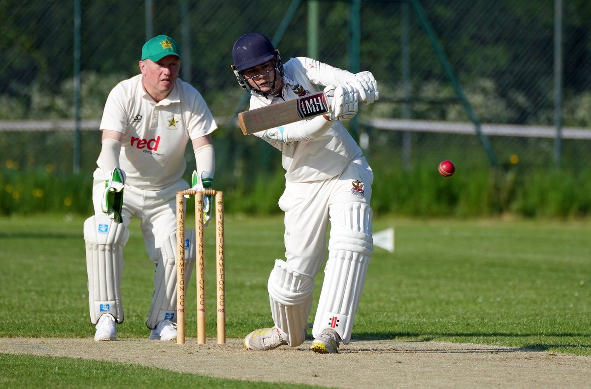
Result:
<svg viewBox="0 0 591 389"><path fill-rule="evenodd" d="M164 240L161 256L158 259L154 274L154 296L148 313L148 328L154 329L163 320L177 322L177 266L176 266L177 234L172 233ZM185 285L189 285L193 265L195 264L195 231L185 230L184 241Z"/></svg>

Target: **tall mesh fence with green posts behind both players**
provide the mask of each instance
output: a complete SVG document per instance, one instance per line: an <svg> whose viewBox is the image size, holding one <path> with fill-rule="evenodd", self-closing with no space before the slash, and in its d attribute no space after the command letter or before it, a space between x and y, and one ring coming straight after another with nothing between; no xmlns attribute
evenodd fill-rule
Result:
<svg viewBox="0 0 591 389"><path fill-rule="evenodd" d="M249 166L277 167L274 151L233 121L246 107L231 48L252 31L272 38L284 60L307 55L375 74L380 100L348 123L374 169L442 159L466 168L591 166L588 0L3 0L2 169L92 171L106 96L138 73L141 46L157 34L179 41L181 78L220 124L221 171L249 179Z"/></svg>

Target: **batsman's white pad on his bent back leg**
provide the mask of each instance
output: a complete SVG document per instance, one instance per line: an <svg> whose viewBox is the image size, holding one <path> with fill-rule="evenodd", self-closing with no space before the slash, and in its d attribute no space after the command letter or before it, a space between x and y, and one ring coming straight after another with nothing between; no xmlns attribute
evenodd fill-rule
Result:
<svg viewBox="0 0 591 389"><path fill-rule="evenodd" d="M287 334L285 341L290 346L301 345L306 340L314 280L307 274L295 272L285 261L277 259L267 289L275 326Z"/></svg>

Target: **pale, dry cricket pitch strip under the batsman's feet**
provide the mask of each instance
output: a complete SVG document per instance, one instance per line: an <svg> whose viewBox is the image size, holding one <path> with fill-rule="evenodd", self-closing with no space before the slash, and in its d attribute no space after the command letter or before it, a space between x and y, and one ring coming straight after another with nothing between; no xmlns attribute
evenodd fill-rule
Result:
<svg viewBox="0 0 591 389"><path fill-rule="evenodd" d="M591 381L591 358L472 344L352 341L339 354L297 348L246 351L242 339L198 345L148 339L0 338L0 352L100 359L212 377L336 388L580 388ZM273 374L260 367L273 365ZM255 368L259 367L259 368ZM265 370L267 371L267 370Z"/></svg>

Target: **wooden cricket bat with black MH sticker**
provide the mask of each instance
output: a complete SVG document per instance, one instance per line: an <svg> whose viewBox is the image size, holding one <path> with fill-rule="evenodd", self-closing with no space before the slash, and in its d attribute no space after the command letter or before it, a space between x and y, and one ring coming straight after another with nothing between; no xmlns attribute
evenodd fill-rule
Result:
<svg viewBox="0 0 591 389"><path fill-rule="evenodd" d="M242 133L249 135L324 113L329 113L328 99L324 92L318 92L241 112L238 114L238 123Z"/></svg>

